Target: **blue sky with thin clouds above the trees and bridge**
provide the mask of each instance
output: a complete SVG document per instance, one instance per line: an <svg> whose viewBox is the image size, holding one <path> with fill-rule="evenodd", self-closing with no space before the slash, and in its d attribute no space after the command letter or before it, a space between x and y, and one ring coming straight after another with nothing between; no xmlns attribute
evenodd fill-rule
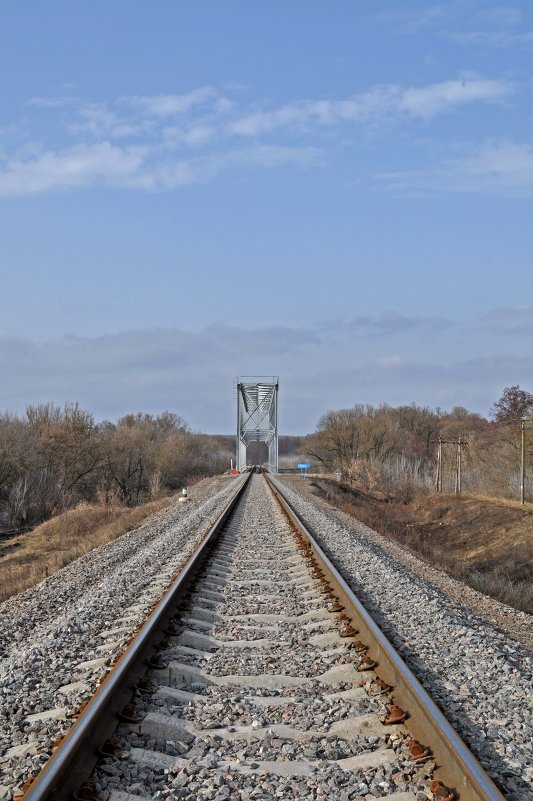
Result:
<svg viewBox="0 0 533 801"><path fill-rule="evenodd" d="M533 10L2 4L0 408L533 390Z"/></svg>

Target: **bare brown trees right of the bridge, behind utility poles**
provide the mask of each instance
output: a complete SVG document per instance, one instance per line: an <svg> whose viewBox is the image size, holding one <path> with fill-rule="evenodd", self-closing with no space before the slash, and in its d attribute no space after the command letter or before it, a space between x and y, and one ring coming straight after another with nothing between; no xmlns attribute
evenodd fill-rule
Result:
<svg viewBox="0 0 533 801"><path fill-rule="evenodd" d="M489 419L463 407L447 412L415 404L356 404L330 411L304 440L302 449L314 468L340 473L342 480L363 491L410 500L421 489L435 486L439 437L444 441L443 489L453 491L460 441L464 488L480 494L516 497L522 423L530 474L533 394L519 386L504 389Z"/></svg>

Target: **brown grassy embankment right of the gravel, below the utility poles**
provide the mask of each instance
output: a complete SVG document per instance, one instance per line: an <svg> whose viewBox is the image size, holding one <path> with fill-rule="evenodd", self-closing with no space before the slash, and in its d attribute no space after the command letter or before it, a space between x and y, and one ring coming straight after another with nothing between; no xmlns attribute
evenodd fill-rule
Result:
<svg viewBox="0 0 533 801"><path fill-rule="evenodd" d="M330 480L315 481L329 503L454 578L533 613L533 505L469 495L390 503Z"/></svg>

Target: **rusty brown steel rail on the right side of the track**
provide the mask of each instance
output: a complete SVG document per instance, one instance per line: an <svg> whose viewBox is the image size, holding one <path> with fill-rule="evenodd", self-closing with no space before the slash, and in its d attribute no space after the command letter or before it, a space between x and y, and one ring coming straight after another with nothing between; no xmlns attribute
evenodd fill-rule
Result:
<svg viewBox="0 0 533 801"><path fill-rule="evenodd" d="M267 473L264 475L289 521L307 540L315 561L345 607L345 613L359 629L361 639L369 645L368 653L377 662L376 673L383 681L392 685L394 703L408 712L409 717L404 725L414 738L431 749L437 765L435 776L453 789L460 801L505 801L490 776L322 550L291 502L273 484L270 476Z"/></svg>

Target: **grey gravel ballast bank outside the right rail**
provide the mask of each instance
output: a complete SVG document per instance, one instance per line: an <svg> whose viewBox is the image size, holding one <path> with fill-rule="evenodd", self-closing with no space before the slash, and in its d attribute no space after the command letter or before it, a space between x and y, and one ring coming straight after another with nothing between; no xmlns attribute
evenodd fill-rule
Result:
<svg viewBox="0 0 533 801"><path fill-rule="evenodd" d="M497 623L503 607L521 631L531 618L443 574L437 586L438 571L395 557L384 537L353 518L348 525L307 487L275 483L510 801L530 800L533 654L487 622L487 605Z"/></svg>

